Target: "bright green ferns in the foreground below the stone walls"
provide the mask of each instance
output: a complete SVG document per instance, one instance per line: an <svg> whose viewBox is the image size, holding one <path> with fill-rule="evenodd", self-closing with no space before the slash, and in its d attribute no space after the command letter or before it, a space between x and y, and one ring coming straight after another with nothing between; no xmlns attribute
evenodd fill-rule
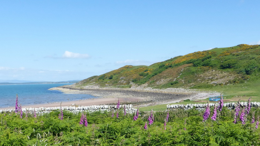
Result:
<svg viewBox="0 0 260 146"><path fill-rule="evenodd" d="M260 129L255 128L256 122L250 124L253 112L257 120L260 109L252 108L246 124L234 124L234 110L226 108L217 114L216 121L209 118L205 122L204 111L169 111L166 126L167 111L155 112L154 122L147 129L143 127L150 112L142 111L136 121L133 114L124 116L122 110L119 118L111 117L111 113L86 113L87 127L79 124L81 113L64 111L63 120L58 119L60 111L36 118L29 115L27 119L0 113L0 145L259 145Z"/></svg>

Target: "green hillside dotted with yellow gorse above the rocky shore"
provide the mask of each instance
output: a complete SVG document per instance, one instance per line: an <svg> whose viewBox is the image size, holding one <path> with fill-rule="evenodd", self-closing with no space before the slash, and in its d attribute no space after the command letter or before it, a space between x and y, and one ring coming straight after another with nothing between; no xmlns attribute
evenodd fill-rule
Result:
<svg viewBox="0 0 260 146"><path fill-rule="evenodd" d="M260 45L241 44L177 56L150 66L123 66L103 75L82 80L76 85L221 91L237 89L237 86L255 89L260 83L259 66Z"/></svg>

